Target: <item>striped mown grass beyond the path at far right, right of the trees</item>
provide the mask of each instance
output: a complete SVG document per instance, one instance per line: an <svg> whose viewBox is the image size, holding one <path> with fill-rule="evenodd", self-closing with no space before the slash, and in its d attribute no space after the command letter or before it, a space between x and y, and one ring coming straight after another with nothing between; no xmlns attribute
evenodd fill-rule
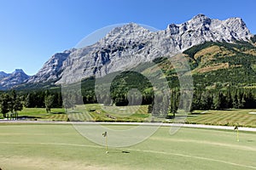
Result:
<svg viewBox="0 0 256 170"><path fill-rule="evenodd" d="M241 127L256 127L256 110L224 110L224 111L195 111L194 116L188 116L187 123L224 125Z"/></svg>

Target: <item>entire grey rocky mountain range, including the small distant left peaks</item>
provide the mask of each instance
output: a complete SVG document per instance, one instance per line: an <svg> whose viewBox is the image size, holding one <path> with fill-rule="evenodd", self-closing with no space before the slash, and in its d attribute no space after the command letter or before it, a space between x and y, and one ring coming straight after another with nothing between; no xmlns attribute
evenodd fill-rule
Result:
<svg viewBox="0 0 256 170"><path fill-rule="evenodd" d="M104 77L146 61L188 52L190 48L205 42L245 42L245 46L249 43L254 47L255 36L250 33L241 18L217 20L210 19L204 14L198 14L183 24L171 24L163 31L148 31L143 26L130 23L114 28L95 44L54 54L32 77L20 70L12 74L0 72L0 89L15 88L20 84L61 84L91 76ZM216 48L215 44L214 50L214 53L218 53L221 48ZM198 62L199 58L196 60L193 57L195 56L190 55L191 62ZM214 68L216 71L216 68L222 67ZM204 72L204 69L197 68L195 71Z"/></svg>

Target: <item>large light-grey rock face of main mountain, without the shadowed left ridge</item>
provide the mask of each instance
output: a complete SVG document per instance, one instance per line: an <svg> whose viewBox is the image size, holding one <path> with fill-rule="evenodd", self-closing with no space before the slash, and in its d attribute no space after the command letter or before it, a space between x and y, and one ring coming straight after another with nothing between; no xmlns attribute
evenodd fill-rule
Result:
<svg viewBox="0 0 256 170"><path fill-rule="evenodd" d="M252 36L240 18L212 20L203 14L180 25L171 24L164 31L152 32L131 23L114 28L96 44L70 54L63 63L61 81L102 77L160 56L182 53L203 42L250 42Z"/></svg>

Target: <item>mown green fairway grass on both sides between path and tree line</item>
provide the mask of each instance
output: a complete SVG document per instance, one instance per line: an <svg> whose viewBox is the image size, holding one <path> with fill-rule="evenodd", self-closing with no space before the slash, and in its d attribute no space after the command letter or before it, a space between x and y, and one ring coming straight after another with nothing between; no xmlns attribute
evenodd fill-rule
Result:
<svg viewBox="0 0 256 170"><path fill-rule="evenodd" d="M256 109L194 111L192 114L189 114L186 123L256 127L255 113ZM148 114L148 105L115 107L102 106L99 104L77 105L75 110L68 114L66 114L65 110L62 108L52 109L50 113L46 113L44 108L24 108L22 111L19 111L19 116L20 118L23 117L28 120L64 122L67 122L68 119L75 122L151 122L152 118L150 114ZM177 114L177 116L180 115ZM158 121L158 119L154 119L154 121ZM172 122L172 119L167 122Z"/></svg>

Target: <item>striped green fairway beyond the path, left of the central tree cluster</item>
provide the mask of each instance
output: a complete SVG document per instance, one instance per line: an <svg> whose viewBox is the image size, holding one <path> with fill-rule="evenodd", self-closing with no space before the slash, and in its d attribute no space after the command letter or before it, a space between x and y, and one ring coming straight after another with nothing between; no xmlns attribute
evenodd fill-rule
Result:
<svg viewBox="0 0 256 170"><path fill-rule="evenodd" d="M150 115L148 105L117 107L90 104L76 105L67 113L63 108L53 108L50 113L46 113L44 108L24 108L19 111L19 117L38 121L145 122Z"/></svg>

